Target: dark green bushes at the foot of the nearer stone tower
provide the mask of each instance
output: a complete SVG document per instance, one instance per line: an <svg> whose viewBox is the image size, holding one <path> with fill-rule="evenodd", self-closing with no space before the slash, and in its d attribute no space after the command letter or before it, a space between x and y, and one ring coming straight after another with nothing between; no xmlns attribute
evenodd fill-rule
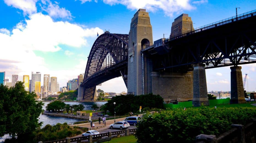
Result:
<svg viewBox="0 0 256 143"><path fill-rule="evenodd" d="M113 103L116 103L114 106ZM145 107L148 108L163 108L164 99L160 95L119 95L113 97L112 100L109 100L106 103L108 110L114 114L114 109L116 109L116 114L126 114L128 112L136 113L142 106L142 109Z"/></svg>

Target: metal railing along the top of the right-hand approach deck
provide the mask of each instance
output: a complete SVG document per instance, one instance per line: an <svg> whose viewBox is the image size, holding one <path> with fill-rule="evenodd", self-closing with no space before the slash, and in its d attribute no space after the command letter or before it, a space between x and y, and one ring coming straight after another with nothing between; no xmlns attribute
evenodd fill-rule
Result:
<svg viewBox="0 0 256 143"><path fill-rule="evenodd" d="M184 37L184 36L188 36L193 33L197 33L197 32L203 31L203 30L207 30L207 29L214 28L214 27L217 27L220 25L228 24L228 23L231 23L234 21L238 21L238 20L247 18L247 17L255 16L255 15L256 15L256 10L252 10L252 11L249 11L246 13L239 14L237 17L236 16L229 17L229 18L223 19L221 21L213 22L211 24L207 24L207 25L195 28L194 30L189 30L189 31L183 32L179 35L175 35L174 37L171 37L171 38L169 37L169 38L165 39L165 43L167 43L168 41L171 41L171 40L175 40L175 39Z"/></svg>

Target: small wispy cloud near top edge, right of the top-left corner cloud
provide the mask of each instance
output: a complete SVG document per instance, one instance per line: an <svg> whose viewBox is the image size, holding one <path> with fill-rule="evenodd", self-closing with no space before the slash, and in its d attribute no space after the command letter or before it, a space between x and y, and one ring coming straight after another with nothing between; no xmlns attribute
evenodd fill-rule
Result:
<svg viewBox="0 0 256 143"><path fill-rule="evenodd" d="M50 0L42 0L42 3L44 4L42 9L46 11L51 17L72 19L70 11L63 7L60 8L58 2L55 1L55 4L53 4Z"/></svg>

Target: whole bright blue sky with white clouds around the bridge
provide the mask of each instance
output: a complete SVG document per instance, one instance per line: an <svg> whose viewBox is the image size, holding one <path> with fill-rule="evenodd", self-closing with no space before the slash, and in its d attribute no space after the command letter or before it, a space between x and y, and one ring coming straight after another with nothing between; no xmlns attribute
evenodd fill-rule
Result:
<svg viewBox="0 0 256 143"><path fill-rule="evenodd" d="M139 8L150 12L153 40L170 35L171 23L182 13L194 28L256 9L255 0L0 0L0 71L6 78L41 72L56 76L60 87L85 72L97 32L128 34ZM256 91L256 64L242 65L247 91ZM230 67L207 69L208 91L230 91ZM42 78L43 81L43 78ZM123 80L112 79L105 92L127 91Z"/></svg>

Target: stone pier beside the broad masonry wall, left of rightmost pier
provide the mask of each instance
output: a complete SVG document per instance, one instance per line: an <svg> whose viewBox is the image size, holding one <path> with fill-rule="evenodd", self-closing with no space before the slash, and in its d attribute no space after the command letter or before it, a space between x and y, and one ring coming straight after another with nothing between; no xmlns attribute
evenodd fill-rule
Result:
<svg viewBox="0 0 256 143"><path fill-rule="evenodd" d="M199 107L202 103L209 105L204 64L194 64L193 72L193 105Z"/></svg>

